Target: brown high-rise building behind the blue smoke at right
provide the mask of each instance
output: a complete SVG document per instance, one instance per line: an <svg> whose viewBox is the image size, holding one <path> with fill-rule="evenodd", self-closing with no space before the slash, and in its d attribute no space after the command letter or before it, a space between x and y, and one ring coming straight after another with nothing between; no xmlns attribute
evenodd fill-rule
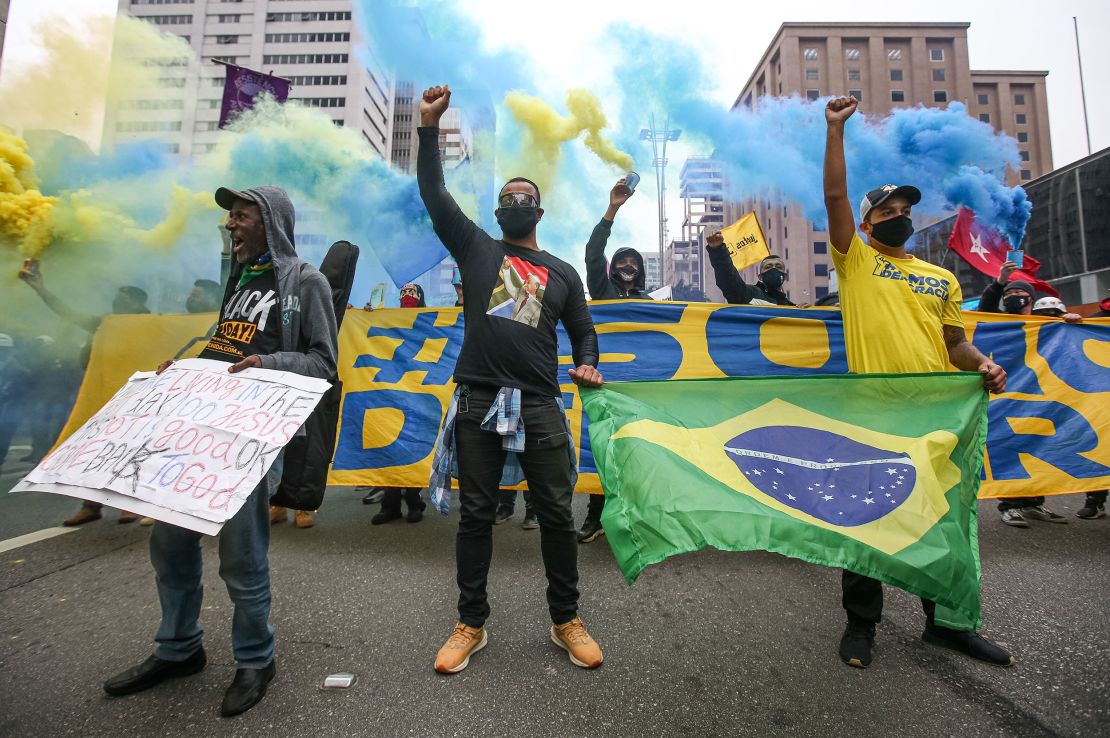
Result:
<svg viewBox="0 0 1110 738"><path fill-rule="evenodd" d="M972 70L969 26L784 23L733 109L754 108L765 97L850 94L860 101L861 112L881 117L898 108L959 101L970 115L1017 139L1021 165L1009 172L1008 184L1039 178L1052 169L1048 72ZM726 220L749 211L759 216L771 252L786 261L791 299L813 303L825 296L831 269L828 234L814 230L798 206L776 195L728 203ZM744 277L755 280L755 271L745 270Z"/></svg>

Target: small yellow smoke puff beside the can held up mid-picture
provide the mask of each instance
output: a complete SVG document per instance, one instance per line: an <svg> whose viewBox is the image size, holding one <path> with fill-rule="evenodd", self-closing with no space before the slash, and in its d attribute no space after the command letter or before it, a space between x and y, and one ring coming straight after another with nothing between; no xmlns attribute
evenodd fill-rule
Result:
<svg viewBox="0 0 1110 738"><path fill-rule="evenodd" d="M568 115L561 115L539 98L509 92L505 107L526 133L526 141L517 164L532 173L541 190L553 183L559 162L559 149L585 133L584 143L602 161L628 171L632 156L617 149L602 134L608 124L601 101L588 90L569 90L566 93Z"/></svg>

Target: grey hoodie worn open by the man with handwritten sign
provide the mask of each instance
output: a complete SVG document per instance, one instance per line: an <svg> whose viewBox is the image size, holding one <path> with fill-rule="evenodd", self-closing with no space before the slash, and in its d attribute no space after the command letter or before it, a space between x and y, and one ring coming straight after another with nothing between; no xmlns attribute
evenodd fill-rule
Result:
<svg viewBox="0 0 1110 738"><path fill-rule="evenodd" d="M258 203L266 226L266 245L274 260L274 281L281 305L282 350L260 356L262 368L293 372L322 380L335 378L339 338L332 287L315 266L293 246L293 203L281 188L242 190ZM234 292L243 265L232 262L223 302Z"/></svg>

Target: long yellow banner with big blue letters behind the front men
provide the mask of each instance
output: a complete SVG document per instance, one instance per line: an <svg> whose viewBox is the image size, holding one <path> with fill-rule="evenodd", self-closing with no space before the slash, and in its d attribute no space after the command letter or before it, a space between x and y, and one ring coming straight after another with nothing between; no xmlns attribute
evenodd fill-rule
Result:
<svg viewBox="0 0 1110 738"><path fill-rule="evenodd" d="M848 371L838 309L646 301L591 303L609 382L799 376ZM203 346L214 315L109 315L63 436L132 372ZM968 335L1006 368L991 396L982 497L1110 487L1110 319L1067 325L1046 317L965 313ZM436 431L454 391L462 310L347 311L340 335L343 412L337 485L424 486ZM559 336L562 378L571 346ZM601 492L577 388L563 385L582 471ZM885 408L892 414L914 407Z"/></svg>

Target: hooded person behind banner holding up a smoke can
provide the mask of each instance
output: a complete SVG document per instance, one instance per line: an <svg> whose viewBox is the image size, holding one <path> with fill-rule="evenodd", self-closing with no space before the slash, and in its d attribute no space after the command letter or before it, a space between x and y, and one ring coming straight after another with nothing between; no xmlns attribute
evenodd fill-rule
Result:
<svg viewBox="0 0 1110 738"><path fill-rule="evenodd" d="M609 206L602 220L594 226L586 242L586 286L592 300L650 300L647 294L647 270L644 269L644 256L635 249L617 249L613 254L612 266L605 262L605 246L613 232L613 222L617 211L628 202L633 191L625 184L625 178L609 190ZM588 544L605 535L602 528L602 510L605 509L605 495L591 495L586 519L578 528L578 543Z"/></svg>

